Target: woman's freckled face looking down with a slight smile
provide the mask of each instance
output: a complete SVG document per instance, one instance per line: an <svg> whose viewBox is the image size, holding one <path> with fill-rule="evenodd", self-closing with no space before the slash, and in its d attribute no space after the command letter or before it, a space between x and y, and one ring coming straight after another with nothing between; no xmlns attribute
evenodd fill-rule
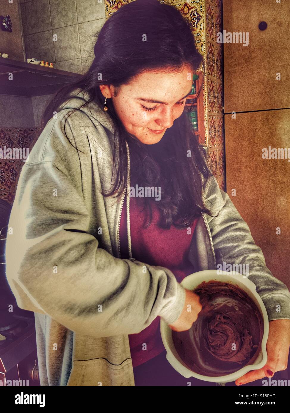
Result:
<svg viewBox="0 0 290 413"><path fill-rule="evenodd" d="M115 112L125 129L142 143L159 142L166 129L183 112L185 97L192 90L193 71L146 71L128 85L122 85L114 97L112 85L102 85L104 96L112 97Z"/></svg>

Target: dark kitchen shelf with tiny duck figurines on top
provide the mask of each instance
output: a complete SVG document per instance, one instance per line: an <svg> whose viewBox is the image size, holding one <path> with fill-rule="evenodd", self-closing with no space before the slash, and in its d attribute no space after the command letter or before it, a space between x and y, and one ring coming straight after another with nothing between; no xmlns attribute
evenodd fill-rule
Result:
<svg viewBox="0 0 290 413"><path fill-rule="evenodd" d="M13 80L9 80L9 75ZM55 93L82 75L0 57L0 94L41 96Z"/></svg>

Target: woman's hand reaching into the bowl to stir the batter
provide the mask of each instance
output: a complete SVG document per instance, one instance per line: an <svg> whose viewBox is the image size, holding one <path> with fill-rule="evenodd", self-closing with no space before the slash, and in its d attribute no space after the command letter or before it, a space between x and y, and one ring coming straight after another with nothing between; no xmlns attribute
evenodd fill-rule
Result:
<svg viewBox="0 0 290 413"><path fill-rule="evenodd" d="M195 294L195 292L185 289L185 304L182 313L174 323L169 324L169 327L174 331L189 330L192 323L197 320L198 313L201 309L202 306L199 302L199 296Z"/></svg>

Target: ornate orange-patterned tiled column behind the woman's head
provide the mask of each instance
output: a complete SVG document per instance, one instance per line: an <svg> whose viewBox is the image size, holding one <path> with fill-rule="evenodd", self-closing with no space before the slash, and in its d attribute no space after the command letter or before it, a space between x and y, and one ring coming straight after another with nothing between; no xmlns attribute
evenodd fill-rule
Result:
<svg viewBox="0 0 290 413"><path fill-rule="evenodd" d="M105 0L106 20L117 9L134 0ZM204 91L205 146L211 159L211 171L225 190L225 150L223 128L223 43L216 43L222 32L222 0L161 0L176 7L194 27L197 48L206 64Z"/></svg>

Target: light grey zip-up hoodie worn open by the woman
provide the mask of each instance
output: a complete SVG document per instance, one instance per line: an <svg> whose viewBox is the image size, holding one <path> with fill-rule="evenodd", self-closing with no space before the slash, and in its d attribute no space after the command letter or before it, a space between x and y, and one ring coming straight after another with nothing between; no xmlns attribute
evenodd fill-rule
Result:
<svg viewBox="0 0 290 413"><path fill-rule="evenodd" d="M6 243L7 280L18 306L35 313L42 386L134 386L128 334L157 316L177 320L185 290L167 268L120 259L120 216L129 191L119 199L100 192L111 188L113 123L91 103L68 117L70 143L61 123L84 103L84 91L77 92L48 121L22 168ZM219 214L198 220L189 251L195 271L248 264L269 320L290 319L288 288L266 267L214 177L204 197ZM130 248L129 202L127 217Z"/></svg>

